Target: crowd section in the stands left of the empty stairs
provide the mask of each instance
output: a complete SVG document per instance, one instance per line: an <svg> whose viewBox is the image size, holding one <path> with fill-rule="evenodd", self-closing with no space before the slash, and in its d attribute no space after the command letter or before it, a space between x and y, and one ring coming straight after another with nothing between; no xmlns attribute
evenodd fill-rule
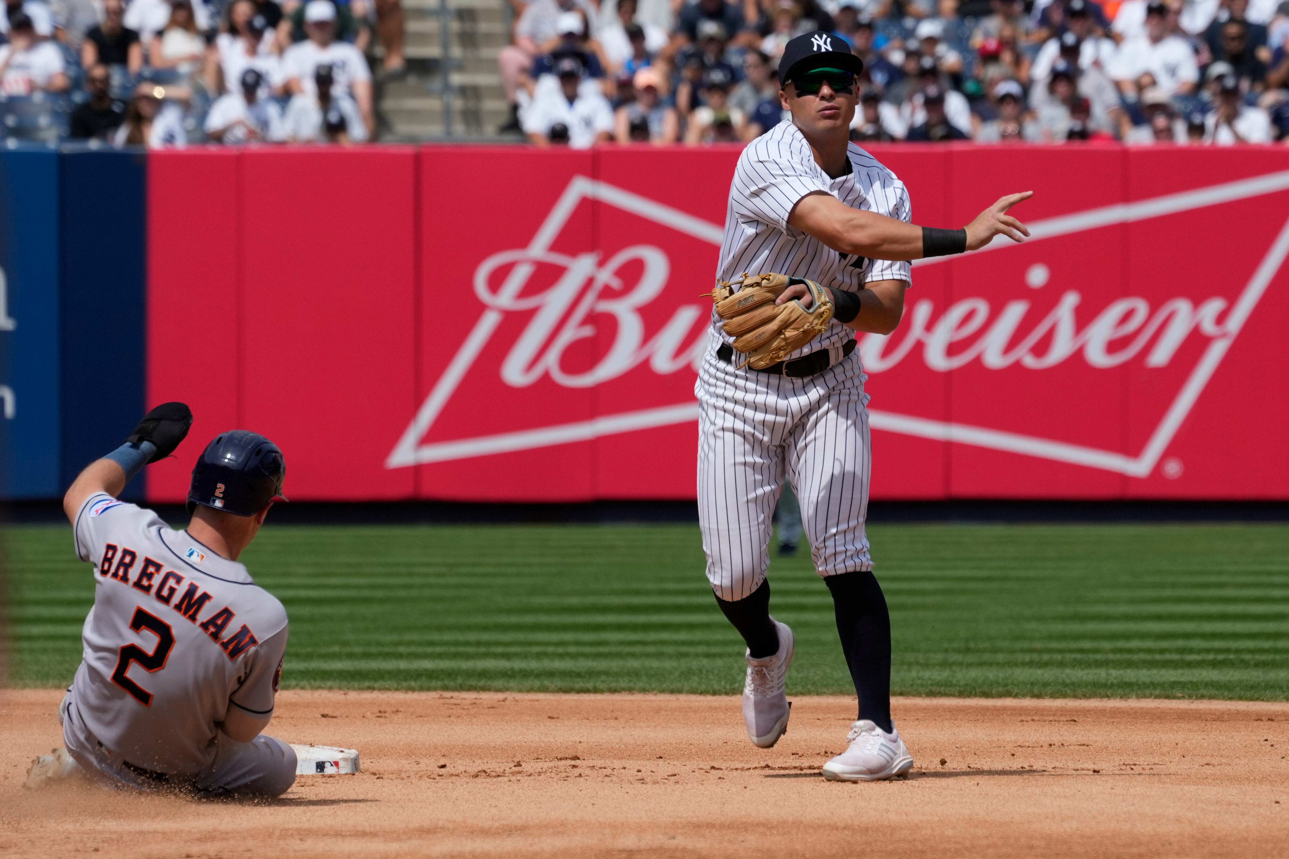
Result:
<svg viewBox="0 0 1289 859"><path fill-rule="evenodd" d="M0 133L115 146L362 142L400 0L4 0Z"/></svg>

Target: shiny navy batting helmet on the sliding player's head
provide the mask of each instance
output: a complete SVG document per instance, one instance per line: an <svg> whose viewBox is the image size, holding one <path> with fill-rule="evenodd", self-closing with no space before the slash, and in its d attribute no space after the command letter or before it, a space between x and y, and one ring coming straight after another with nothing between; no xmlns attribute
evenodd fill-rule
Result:
<svg viewBox="0 0 1289 859"><path fill-rule="evenodd" d="M259 433L229 430L201 452L188 486L188 514L196 505L254 516L269 501L286 501L286 461L277 446Z"/></svg>

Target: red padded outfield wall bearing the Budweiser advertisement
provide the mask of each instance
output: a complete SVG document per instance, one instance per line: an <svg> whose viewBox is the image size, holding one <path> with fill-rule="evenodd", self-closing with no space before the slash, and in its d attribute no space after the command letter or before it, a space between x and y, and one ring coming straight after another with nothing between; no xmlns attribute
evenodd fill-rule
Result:
<svg viewBox="0 0 1289 859"><path fill-rule="evenodd" d="M861 335L875 498L1289 497L1289 152L873 152L924 224L1036 192ZM148 402L264 433L299 500L692 498L737 155L152 153Z"/></svg>

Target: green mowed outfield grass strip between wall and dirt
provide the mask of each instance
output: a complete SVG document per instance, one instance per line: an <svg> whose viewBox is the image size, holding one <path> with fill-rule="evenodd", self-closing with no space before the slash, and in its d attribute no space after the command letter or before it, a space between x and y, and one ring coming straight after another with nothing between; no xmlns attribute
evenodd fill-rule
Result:
<svg viewBox="0 0 1289 859"><path fill-rule="evenodd" d="M878 525L893 688L1284 701L1289 527ZM6 532L10 683L66 684L93 572L68 528ZM693 525L269 527L287 688L736 693L742 645ZM851 692L828 590L775 559L795 694Z"/></svg>

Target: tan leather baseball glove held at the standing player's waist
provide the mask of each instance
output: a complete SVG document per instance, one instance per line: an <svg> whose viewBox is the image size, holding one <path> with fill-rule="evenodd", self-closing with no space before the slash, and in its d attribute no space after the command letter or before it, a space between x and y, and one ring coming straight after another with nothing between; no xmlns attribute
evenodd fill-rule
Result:
<svg viewBox="0 0 1289 859"><path fill-rule="evenodd" d="M775 304L794 283L804 283L809 290L809 309L795 299ZM712 292L712 300L717 316L724 321L726 334L733 337L735 350L748 355L740 366L750 364L753 370L764 370L797 352L824 334L833 318L833 303L822 286L786 274L745 273L737 281L722 282Z"/></svg>

